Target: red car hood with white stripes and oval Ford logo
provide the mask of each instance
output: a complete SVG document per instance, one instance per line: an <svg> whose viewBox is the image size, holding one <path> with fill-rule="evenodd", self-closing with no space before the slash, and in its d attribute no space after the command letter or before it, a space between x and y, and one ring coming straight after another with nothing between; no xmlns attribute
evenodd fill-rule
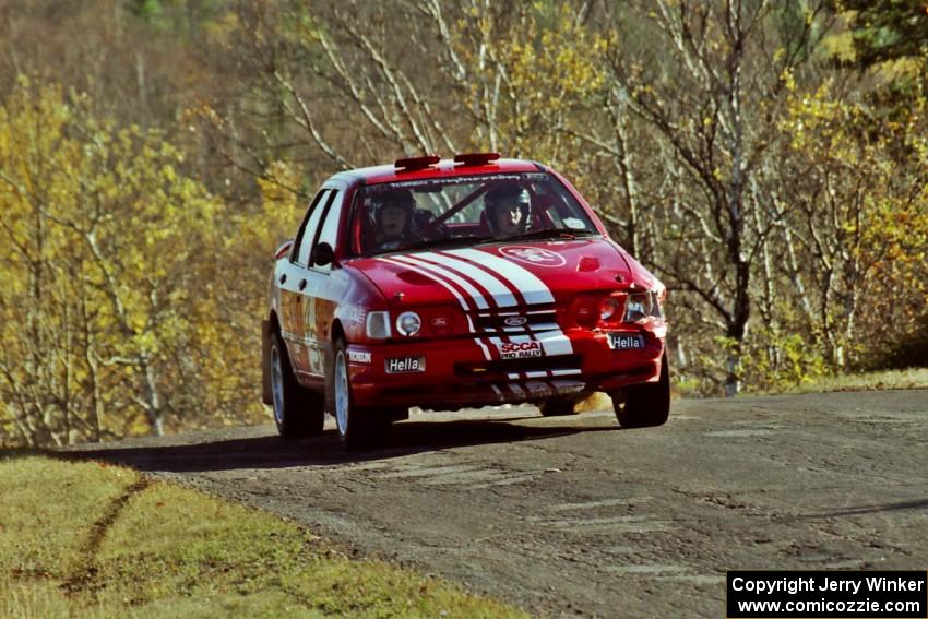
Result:
<svg viewBox="0 0 928 619"><path fill-rule="evenodd" d="M391 306L460 303L467 310L548 305L576 293L634 283L663 285L617 243L602 237L484 243L393 252L353 260Z"/></svg>

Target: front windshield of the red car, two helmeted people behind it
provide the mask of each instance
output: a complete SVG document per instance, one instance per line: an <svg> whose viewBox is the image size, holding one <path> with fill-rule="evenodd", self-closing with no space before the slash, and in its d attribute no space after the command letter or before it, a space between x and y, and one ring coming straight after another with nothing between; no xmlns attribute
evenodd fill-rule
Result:
<svg viewBox="0 0 928 619"><path fill-rule="evenodd" d="M576 199L546 172L457 176L365 187L355 201L353 253L598 234Z"/></svg>

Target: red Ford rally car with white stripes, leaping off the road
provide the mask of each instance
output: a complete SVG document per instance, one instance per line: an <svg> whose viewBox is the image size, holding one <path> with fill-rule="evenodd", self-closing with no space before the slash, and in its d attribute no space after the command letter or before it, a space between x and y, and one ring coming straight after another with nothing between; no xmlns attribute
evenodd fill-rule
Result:
<svg viewBox="0 0 928 619"><path fill-rule="evenodd" d="M400 159L326 180L275 254L263 397L282 436L334 414L348 449L411 406L608 393L621 426L667 420L665 288L542 164Z"/></svg>

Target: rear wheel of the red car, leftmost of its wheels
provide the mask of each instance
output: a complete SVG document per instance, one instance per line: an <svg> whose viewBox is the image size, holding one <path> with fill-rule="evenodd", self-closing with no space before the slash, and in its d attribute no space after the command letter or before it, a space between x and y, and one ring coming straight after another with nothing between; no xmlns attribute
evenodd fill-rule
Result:
<svg viewBox="0 0 928 619"><path fill-rule="evenodd" d="M271 406L277 432L285 439L318 437L325 422L321 393L304 389L294 377L287 348L279 333L271 338Z"/></svg>

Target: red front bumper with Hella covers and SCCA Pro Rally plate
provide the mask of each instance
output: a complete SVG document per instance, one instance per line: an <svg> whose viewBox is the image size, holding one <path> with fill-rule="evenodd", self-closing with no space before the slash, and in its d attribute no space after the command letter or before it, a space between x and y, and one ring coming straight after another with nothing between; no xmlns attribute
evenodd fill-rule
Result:
<svg viewBox="0 0 928 619"><path fill-rule="evenodd" d="M612 349L605 332L587 329L350 345L352 393L361 406L453 409L540 402L656 381L663 333L644 329L623 333L640 335L643 346ZM539 347L542 356L500 358L504 344L525 342L537 342L538 346L525 347Z"/></svg>

